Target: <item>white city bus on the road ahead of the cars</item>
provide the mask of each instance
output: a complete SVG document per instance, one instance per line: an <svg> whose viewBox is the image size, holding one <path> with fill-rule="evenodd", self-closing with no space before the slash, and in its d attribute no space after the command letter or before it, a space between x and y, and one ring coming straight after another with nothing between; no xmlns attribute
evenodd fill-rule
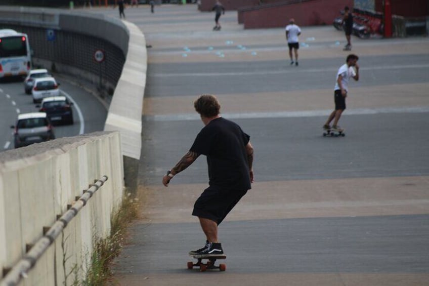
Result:
<svg viewBox="0 0 429 286"><path fill-rule="evenodd" d="M11 29L0 29L0 78L26 76L30 69L28 36Z"/></svg>

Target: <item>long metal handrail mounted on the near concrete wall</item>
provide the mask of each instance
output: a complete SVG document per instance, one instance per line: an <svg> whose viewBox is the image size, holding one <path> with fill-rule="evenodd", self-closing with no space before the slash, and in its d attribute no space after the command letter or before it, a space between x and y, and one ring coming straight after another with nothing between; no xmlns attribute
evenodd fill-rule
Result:
<svg viewBox="0 0 429 286"><path fill-rule="evenodd" d="M108 180L107 176L95 181L88 190L76 199L76 202L65 212L41 237L27 254L18 261L17 264L0 281L0 286L14 286L19 283L22 277L26 278L28 271L34 267L37 260L45 253L58 235L66 228L67 224L77 215L77 213L87 204L93 194ZM44 228L45 230L45 228Z"/></svg>

